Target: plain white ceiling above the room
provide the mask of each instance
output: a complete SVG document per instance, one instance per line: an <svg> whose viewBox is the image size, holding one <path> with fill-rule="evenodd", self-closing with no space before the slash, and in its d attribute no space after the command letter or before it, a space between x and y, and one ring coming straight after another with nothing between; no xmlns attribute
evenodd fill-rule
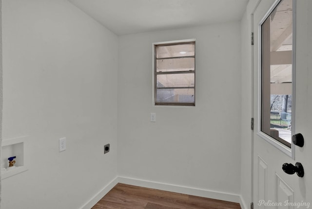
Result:
<svg viewBox="0 0 312 209"><path fill-rule="evenodd" d="M116 35L240 21L248 0L69 0Z"/></svg>

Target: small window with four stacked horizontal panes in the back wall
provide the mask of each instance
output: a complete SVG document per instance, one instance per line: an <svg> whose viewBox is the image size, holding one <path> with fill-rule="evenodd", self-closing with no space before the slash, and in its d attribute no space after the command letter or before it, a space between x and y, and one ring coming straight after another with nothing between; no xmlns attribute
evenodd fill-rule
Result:
<svg viewBox="0 0 312 209"><path fill-rule="evenodd" d="M154 44L156 105L195 105L195 41Z"/></svg>

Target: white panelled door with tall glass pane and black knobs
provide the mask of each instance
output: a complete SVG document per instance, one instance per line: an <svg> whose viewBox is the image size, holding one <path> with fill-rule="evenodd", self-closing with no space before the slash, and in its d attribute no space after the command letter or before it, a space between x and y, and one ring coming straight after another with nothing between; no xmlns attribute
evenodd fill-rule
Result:
<svg viewBox="0 0 312 209"><path fill-rule="evenodd" d="M259 0L252 15L254 208L312 207L311 9L311 0Z"/></svg>

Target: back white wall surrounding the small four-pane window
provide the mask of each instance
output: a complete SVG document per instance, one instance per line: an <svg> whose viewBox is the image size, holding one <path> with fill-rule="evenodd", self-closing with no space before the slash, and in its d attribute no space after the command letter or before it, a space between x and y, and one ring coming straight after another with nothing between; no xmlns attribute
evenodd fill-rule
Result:
<svg viewBox="0 0 312 209"><path fill-rule="evenodd" d="M240 193L240 30L231 22L119 37L118 175ZM196 106L153 106L152 43L193 38Z"/></svg>

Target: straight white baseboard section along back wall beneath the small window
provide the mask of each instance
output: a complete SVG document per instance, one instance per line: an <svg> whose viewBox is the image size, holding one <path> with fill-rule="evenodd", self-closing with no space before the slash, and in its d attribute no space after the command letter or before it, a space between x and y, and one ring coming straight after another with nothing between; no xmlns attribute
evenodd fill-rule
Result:
<svg viewBox="0 0 312 209"><path fill-rule="evenodd" d="M165 190L165 191L230 201L230 202L235 202L235 203L240 203L240 200L241 200L240 196L237 194L212 191L212 190L206 190L206 189L200 189L200 188L190 188L190 187L184 187L184 186L172 185L172 184L163 184L159 182L145 181L145 180L133 179L133 178L127 178L127 177L121 177L121 176L118 177L118 182L123 183L123 184L134 185L138 187L155 188L155 189L160 189L160 190Z"/></svg>

